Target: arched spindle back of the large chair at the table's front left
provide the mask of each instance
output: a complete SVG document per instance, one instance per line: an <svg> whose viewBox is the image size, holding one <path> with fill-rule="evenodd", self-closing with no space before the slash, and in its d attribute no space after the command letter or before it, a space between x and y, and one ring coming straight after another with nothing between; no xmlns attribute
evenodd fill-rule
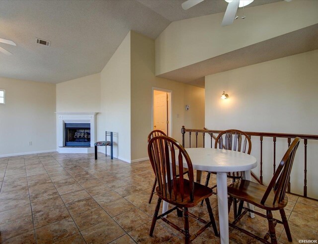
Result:
<svg viewBox="0 0 318 244"><path fill-rule="evenodd" d="M194 176L191 159L184 147L171 137L155 136L148 143L148 154L158 180L159 194L176 201L184 198L183 161L189 169L190 201L194 195ZM178 162L178 165L176 165ZM179 173L176 168L178 167Z"/></svg>

